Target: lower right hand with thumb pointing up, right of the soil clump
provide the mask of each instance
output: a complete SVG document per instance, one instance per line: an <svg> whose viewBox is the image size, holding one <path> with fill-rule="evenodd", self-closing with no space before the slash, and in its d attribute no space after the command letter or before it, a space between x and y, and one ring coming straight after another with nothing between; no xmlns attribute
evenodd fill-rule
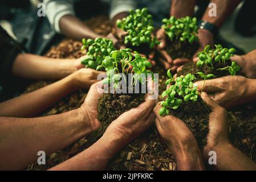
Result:
<svg viewBox="0 0 256 182"><path fill-rule="evenodd" d="M204 153L208 156L208 152L216 146L222 146L229 142L229 123L227 122L227 111L202 92L202 100L210 107L212 112L209 114L209 133L207 135L207 144L204 147Z"/></svg>

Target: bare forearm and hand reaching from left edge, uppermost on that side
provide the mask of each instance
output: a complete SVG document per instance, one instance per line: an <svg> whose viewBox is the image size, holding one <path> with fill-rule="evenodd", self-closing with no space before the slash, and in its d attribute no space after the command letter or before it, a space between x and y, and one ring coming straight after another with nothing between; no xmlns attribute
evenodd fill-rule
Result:
<svg viewBox="0 0 256 182"><path fill-rule="evenodd" d="M30 80L57 80L83 68L79 59L52 59L44 56L19 53L12 66L12 75Z"/></svg>

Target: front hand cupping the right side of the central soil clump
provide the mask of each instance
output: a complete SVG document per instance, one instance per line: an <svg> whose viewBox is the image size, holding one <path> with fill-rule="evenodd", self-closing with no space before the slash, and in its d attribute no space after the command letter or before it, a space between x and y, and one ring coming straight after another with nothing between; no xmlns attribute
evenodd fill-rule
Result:
<svg viewBox="0 0 256 182"><path fill-rule="evenodd" d="M155 100L148 100L149 97L148 93L145 96L145 102L121 114L108 126L104 135L119 136L117 138L121 137L125 145L147 130L155 119L155 115L152 113Z"/></svg>

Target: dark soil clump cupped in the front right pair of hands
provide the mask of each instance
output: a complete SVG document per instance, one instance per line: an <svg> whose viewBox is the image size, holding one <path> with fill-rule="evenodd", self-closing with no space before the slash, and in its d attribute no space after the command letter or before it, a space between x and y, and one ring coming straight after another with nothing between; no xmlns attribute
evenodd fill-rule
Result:
<svg viewBox="0 0 256 182"><path fill-rule="evenodd" d="M201 97L198 97L197 102L182 102L177 110L170 110L170 114L186 123L201 149L207 142L209 113L210 109Z"/></svg>

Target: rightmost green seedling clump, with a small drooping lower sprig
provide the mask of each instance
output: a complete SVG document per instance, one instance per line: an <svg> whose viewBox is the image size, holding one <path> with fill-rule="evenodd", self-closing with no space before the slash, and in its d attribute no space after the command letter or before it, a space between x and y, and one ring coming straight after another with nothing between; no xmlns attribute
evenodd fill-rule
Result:
<svg viewBox="0 0 256 182"><path fill-rule="evenodd" d="M215 49L210 49L210 46L205 46L204 51L198 53L199 60L197 61L197 67L206 65L209 69L215 69L214 64L220 63L226 65L227 61L230 61L230 57L234 56L235 48L223 48L221 45L215 45ZM216 70L229 71L231 76L234 76L240 67L234 62L231 62L230 66L224 68L218 68Z"/></svg>

